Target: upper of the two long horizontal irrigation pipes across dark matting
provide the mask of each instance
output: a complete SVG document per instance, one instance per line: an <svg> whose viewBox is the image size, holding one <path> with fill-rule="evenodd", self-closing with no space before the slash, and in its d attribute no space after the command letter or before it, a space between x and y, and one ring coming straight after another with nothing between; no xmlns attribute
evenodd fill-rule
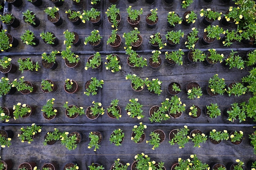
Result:
<svg viewBox="0 0 256 170"><path fill-rule="evenodd" d="M177 51L179 49L164 49L162 51ZM201 51L208 51L208 49L200 49ZM216 49L216 51L251 51L251 50L255 50L255 48L227 48L227 49L223 49L223 48L218 48ZM153 51L152 50L136 50L136 53L151 53ZM182 51L184 52L189 52L189 49L182 49ZM92 52L92 51L72 51L75 54L90 54L92 55L92 53L96 53ZM120 54L125 54L126 51L122 50L122 51L98 51L100 54L112 54L112 53L120 53ZM16 53L11 53L11 52L4 52L4 53L0 53L0 56L10 56L10 55L41 55L43 52L16 52ZM50 53L50 52L48 52Z"/></svg>

